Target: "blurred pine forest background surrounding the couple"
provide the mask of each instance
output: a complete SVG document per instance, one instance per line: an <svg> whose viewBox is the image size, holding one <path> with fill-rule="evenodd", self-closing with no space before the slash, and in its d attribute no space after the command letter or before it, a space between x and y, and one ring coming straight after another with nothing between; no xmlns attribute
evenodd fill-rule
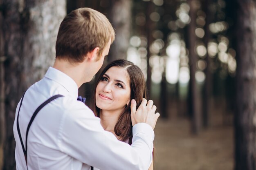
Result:
<svg viewBox="0 0 256 170"><path fill-rule="evenodd" d="M123 58L144 72L161 114L155 170L256 170L255 0L0 0L0 169L16 169L16 105L80 7L116 30L105 64Z"/></svg>

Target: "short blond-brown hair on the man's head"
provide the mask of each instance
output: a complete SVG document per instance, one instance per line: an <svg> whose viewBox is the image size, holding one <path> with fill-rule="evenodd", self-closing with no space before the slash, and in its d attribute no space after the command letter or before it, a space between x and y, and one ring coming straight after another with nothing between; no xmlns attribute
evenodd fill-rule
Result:
<svg viewBox="0 0 256 170"><path fill-rule="evenodd" d="M115 31L102 13L79 8L61 22L56 41L56 58L69 62L83 62L88 52L99 47L98 55L107 43L115 40Z"/></svg>

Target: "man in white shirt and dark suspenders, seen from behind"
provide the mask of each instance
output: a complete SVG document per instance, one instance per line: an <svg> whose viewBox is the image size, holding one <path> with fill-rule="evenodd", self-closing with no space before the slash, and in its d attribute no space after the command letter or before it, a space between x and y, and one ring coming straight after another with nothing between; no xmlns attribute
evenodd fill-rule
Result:
<svg viewBox="0 0 256 170"><path fill-rule="evenodd" d="M29 87L16 109L17 170L148 169L159 117L153 101L144 99L137 110L132 102L132 146L103 130L92 110L77 101L78 88L99 71L114 38L112 25L98 11L76 9L64 18L54 66ZM49 102L55 95L61 96Z"/></svg>

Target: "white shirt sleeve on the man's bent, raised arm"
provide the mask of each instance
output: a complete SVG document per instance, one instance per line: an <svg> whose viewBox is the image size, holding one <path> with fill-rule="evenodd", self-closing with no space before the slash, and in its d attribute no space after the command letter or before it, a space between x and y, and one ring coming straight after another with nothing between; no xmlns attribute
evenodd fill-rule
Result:
<svg viewBox="0 0 256 170"><path fill-rule="evenodd" d="M152 161L153 129L145 123L133 127L132 145L105 131L87 106L65 109L58 133L62 152L100 170L147 170Z"/></svg>

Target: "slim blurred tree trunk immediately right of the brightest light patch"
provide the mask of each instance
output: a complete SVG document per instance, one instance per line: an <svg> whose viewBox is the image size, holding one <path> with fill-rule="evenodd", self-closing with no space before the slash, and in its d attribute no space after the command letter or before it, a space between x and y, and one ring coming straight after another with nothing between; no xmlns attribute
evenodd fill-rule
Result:
<svg viewBox="0 0 256 170"><path fill-rule="evenodd" d="M195 53L195 28L196 28L196 7L193 0L188 1L190 6L189 16L191 18L191 22L189 24L189 66L190 66L190 85L191 85L191 106L192 106L192 132L194 134L198 134L200 128L200 112L198 108L198 90L196 86L195 80L195 72L196 72L196 62L197 55Z"/></svg>

